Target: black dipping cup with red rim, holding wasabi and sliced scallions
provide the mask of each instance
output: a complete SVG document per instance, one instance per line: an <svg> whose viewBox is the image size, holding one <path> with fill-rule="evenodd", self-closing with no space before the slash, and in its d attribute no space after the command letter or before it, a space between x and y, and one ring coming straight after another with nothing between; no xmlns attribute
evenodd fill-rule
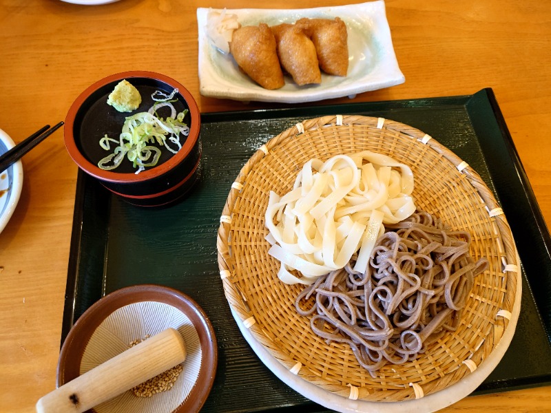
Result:
<svg viewBox="0 0 551 413"><path fill-rule="evenodd" d="M141 105L133 112L121 113L107 105L107 96L123 79L134 85L142 97ZM105 134L118 139L127 116L147 112L152 107L152 93L159 90L170 94L175 88L178 89L174 96L177 101L173 103L176 112L189 109L184 118L190 129L189 136L180 136L182 148L173 154L160 147L158 164L138 174L126 158L116 169L99 168L98 162L114 149L105 151L99 140ZM167 112L162 112L163 109L167 108L160 108L159 112L164 118ZM97 81L76 98L65 118L65 146L80 169L125 201L141 207L159 207L183 198L200 178L199 131L197 103L183 85L154 72L122 72Z"/></svg>

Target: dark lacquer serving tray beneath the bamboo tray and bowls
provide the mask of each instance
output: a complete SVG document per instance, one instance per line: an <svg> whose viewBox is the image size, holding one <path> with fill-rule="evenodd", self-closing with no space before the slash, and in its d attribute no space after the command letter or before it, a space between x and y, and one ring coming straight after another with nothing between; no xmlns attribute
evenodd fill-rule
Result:
<svg viewBox="0 0 551 413"><path fill-rule="evenodd" d="M222 289L216 233L231 183L269 138L328 114L384 117L433 136L494 191L521 258L517 331L501 363L473 394L551 384L551 238L492 89L468 96L202 114L201 180L183 202L141 209L79 171L61 341L95 301L118 288L160 284L205 310L218 340L218 370L203 412L326 412L258 359Z"/></svg>

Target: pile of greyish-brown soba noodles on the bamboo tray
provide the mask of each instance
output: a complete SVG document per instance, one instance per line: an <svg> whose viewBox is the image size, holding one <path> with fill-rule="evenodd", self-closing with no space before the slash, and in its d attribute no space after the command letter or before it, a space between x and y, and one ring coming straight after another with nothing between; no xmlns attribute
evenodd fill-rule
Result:
<svg viewBox="0 0 551 413"><path fill-rule="evenodd" d="M473 285L488 260L469 255L470 234L450 231L429 213L387 225L365 273L353 262L302 290L295 307L327 343L348 343L374 375L402 364L455 331Z"/></svg>

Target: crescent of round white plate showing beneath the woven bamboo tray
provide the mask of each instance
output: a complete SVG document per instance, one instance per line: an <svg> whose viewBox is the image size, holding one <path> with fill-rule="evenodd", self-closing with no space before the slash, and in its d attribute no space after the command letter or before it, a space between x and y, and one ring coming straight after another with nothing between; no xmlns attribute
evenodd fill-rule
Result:
<svg viewBox="0 0 551 413"><path fill-rule="evenodd" d="M519 257L517 255L517 265L519 265ZM519 266L520 268L520 266ZM236 319L239 329L243 337L247 340L253 351L256 352L258 358L275 374L281 381L289 385L290 388L299 392L311 401L318 403L328 409L336 410L341 413L430 413L444 409L457 401L464 399L490 375L495 369L503 354L505 354L514 335L514 330L517 328L517 321L521 309L522 295L522 277L519 274L519 282L515 292L515 301L512 308L512 315L506 330L503 332L501 341L495 346L490 356L479 364L477 370L467 374L464 379L450 385L450 387L440 390L421 399L395 402L375 402L346 399L337 394L326 392L317 385L310 383L291 373L285 366L282 365L269 351L260 344L252 335L250 330L245 328L239 315L231 309L233 318Z"/></svg>

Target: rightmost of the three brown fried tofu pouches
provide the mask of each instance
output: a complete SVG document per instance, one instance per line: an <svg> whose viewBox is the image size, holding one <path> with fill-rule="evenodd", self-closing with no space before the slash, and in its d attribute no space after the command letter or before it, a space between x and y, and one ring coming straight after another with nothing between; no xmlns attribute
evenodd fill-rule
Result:
<svg viewBox="0 0 551 413"><path fill-rule="evenodd" d="M348 33L344 21L331 19L308 19L296 21L310 36L318 54L320 67L327 74L346 76L349 69Z"/></svg>

